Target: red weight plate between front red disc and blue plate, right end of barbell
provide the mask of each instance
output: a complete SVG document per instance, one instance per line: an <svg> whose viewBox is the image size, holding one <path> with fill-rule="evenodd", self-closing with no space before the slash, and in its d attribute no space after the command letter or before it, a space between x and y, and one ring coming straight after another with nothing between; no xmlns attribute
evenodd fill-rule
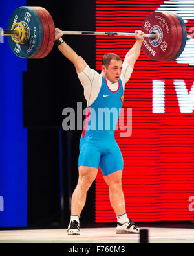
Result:
<svg viewBox="0 0 194 256"><path fill-rule="evenodd" d="M165 59L165 60L172 60L180 50L181 44L182 44L182 26L180 24L180 21L178 20L177 16L173 14L173 12L162 12L166 14L166 16L171 16L173 18L173 21L175 22L176 28L177 28L177 33L172 34L176 38L176 45L175 49L171 54ZM179 36L180 34L180 36Z"/></svg>

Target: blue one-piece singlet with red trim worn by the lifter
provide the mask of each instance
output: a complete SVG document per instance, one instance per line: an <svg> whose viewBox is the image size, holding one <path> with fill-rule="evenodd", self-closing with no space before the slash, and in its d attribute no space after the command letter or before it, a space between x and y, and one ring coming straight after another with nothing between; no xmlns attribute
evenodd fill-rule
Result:
<svg viewBox="0 0 194 256"><path fill-rule="evenodd" d="M98 97L86 109L85 127L80 139L79 167L100 167L103 176L122 170L124 165L120 148L114 138L124 101L124 89L120 79L118 84L118 90L111 91L102 76Z"/></svg>

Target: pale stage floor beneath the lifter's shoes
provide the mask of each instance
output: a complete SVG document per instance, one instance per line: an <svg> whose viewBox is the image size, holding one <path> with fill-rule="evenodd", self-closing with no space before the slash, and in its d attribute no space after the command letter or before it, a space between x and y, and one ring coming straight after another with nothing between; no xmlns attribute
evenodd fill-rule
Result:
<svg viewBox="0 0 194 256"><path fill-rule="evenodd" d="M193 243L194 229L144 227L150 243ZM116 229L81 229L80 236L67 235L67 229L0 231L0 243L138 243L138 234L116 234Z"/></svg>

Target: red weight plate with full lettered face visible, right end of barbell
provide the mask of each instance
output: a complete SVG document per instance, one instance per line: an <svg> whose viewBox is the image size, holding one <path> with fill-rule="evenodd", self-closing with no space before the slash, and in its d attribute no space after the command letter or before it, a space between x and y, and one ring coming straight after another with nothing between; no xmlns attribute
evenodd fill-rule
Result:
<svg viewBox="0 0 194 256"><path fill-rule="evenodd" d="M166 60L175 50L177 44L177 27L173 17L162 12L152 12L142 25L146 34L156 34L156 38L144 38L142 50L151 60Z"/></svg>

